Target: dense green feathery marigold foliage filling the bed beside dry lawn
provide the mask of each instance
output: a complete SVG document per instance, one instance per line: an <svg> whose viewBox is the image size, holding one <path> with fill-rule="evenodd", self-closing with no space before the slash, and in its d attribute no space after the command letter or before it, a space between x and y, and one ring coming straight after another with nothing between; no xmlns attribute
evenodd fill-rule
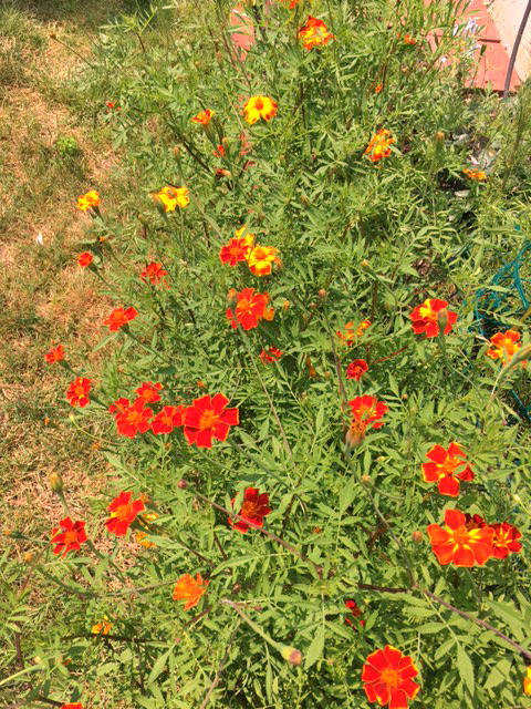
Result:
<svg viewBox="0 0 531 709"><path fill-rule="evenodd" d="M464 89L469 60L457 61L464 40L451 3L408 0L399 21L394 3L315 2L336 39L310 52L294 39L303 10L275 3L262 14L262 4L243 65L229 53L229 3L175 3L104 27L94 68L77 79L126 164L119 208L111 213L102 194L80 250L94 254L116 307L139 316L95 345L108 361L91 404L58 403L87 434L90 424L103 431L108 497L90 501L97 553L82 545L56 557L40 540L32 576L49 585L34 618L20 586L27 569L6 559L19 574L2 629L8 679L20 667L19 636L32 670L31 685L25 675L7 684L25 701L94 707L368 707L362 666L389 644L414 657L419 707L529 706L519 655L519 646L530 651L529 428L508 395L529 374L516 369L491 395L499 363L486 357L473 316L476 291L531 227L529 90L500 104ZM417 44L400 41L403 27ZM433 54L423 38L435 28ZM445 55L456 60L440 69ZM257 94L279 112L248 126L241 104ZM191 116L207 107L216 115L204 130ZM396 142L373 164L364 151L381 127ZM212 155L219 144L223 157ZM486 184L465 177L472 158ZM166 185L187 186L190 205L160 214L150 195ZM273 275L220 264L243 224L279 249ZM168 288L139 278L149 261L169 271ZM275 309L248 332L226 318L229 289L246 287L268 291ZM458 312L447 337L413 333L408 316L426 298ZM502 318L523 330L517 301ZM366 319L352 346L336 336ZM263 366L270 346L283 356ZM358 358L368 372L345 380ZM223 392L240 425L212 450L189 446L180 430L122 436L106 409L144 381L164 384L164 404ZM388 412L351 451L346 401L362 394ZM421 476L427 451L451 441L476 473L457 500ZM274 537L227 523L221 510L236 499L238 511L248 487L269 494L264 530ZM123 490L147 495L158 513L147 536L156 546L140 547L134 532L132 543L110 541L105 508ZM67 504L67 479L65 495ZM426 526L447 508L510 522L522 553L481 568L441 566ZM209 586L185 612L173 586L196 573ZM110 636L91 635L104 616ZM302 662L287 661L282 647Z"/></svg>

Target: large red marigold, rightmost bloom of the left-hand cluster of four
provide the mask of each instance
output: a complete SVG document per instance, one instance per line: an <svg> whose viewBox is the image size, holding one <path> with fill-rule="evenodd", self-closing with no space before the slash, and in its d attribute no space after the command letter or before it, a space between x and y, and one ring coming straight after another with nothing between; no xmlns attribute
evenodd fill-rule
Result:
<svg viewBox="0 0 531 709"><path fill-rule="evenodd" d="M184 433L189 445L212 448L212 438L226 441L231 425L240 422L238 409L227 409L229 400L223 394L195 399L184 411Z"/></svg>

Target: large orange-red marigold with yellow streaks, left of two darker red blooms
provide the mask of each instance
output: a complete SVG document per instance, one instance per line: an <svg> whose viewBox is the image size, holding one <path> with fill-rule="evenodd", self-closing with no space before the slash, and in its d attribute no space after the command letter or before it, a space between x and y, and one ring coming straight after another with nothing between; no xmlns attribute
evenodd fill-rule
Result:
<svg viewBox="0 0 531 709"><path fill-rule="evenodd" d="M445 527L429 524L427 532L439 564L482 566L492 556L492 527L469 528L459 510L447 510Z"/></svg>

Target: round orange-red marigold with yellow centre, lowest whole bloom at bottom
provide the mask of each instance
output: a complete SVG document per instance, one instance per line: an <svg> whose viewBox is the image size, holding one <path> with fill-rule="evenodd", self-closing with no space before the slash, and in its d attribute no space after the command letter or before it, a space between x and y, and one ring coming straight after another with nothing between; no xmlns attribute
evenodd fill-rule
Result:
<svg viewBox="0 0 531 709"><path fill-rule="evenodd" d="M371 702L377 701L381 707L387 705L389 709L407 709L409 700L415 699L420 689L413 681L417 675L412 657L386 645L366 658L362 670L363 689Z"/></svg>

